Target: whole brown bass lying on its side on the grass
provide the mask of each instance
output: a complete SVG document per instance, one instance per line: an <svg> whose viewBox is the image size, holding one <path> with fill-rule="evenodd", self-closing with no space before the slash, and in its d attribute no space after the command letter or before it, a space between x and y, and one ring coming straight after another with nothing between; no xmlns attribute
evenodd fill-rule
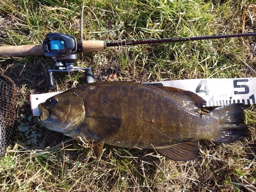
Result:
<svg viewBox="0 0 256 192"><path fill-rule="evenodd" d="M248 137L243 103L200 110L205 100L173 87L100 81L62 92L38 105L36 122L89 142L100 159L103 145L152 149L175 161L199 156L198 140L229 143Z"/></svg>

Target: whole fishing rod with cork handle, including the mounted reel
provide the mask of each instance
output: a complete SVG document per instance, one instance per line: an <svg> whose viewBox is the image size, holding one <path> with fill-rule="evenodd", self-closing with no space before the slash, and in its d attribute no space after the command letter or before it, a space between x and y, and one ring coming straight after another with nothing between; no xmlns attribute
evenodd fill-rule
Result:
<svg viewBox="0 0 256 192"><path fill-rule="evenodd" d="M178 38L160 38L146 40L123 40L118 42L106 42L103 40L83 40L77 41L69 34L49 33L42 44L25 46L3 46L0 47L0 57L24 57L45 55L55 61L57 70L48 70L49 87L55 87L56 81L52 72L74 72L78 70L88 70L89 68L75 67L78 60L78 52L101 51L108 47L115 46L133 46L141 44L162 44L165 42L182 42L205 39L221 39L233 37L256 36L256 33L199 36L199 37L178 37Z"/></svg>

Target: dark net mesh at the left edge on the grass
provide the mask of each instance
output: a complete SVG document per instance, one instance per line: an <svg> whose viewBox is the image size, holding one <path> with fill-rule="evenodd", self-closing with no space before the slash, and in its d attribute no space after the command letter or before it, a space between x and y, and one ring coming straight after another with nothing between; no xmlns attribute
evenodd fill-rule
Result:
<svg viewBox="0 0 256 192"><path fill-rule="evenodd" d="M0 159L11 144L13 124L16 117L16 84L0 73Z"/></svg>

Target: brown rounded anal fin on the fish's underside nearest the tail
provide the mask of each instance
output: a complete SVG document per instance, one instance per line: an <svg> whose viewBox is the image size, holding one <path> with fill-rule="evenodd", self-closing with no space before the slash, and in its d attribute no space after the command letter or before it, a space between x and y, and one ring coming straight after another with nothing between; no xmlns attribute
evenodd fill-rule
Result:
<svg viewBox="0 0 256 192"><path fill-rule="evenodd" d="M175 161L190 161L198 158L199 147L196 141L177 143L167 147L156 147L156 151Z"/></svg>

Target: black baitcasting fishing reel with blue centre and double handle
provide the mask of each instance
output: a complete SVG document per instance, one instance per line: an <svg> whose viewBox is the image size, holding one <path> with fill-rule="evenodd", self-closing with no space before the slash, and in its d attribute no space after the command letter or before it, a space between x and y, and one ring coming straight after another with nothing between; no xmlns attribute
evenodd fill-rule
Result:
<svg viewBox="0 0 256 192"><path fill-rule="evenodd" d="M87 70L86 77L88 82L94 82L93 73L90 68L75 67L78 61L76 38L69 34L49 33L42 42L42 51L46 57L51 57L55 61L57 69L48 70L49 87L56 86L53 72L73 73L79 70Z"/></svg>

